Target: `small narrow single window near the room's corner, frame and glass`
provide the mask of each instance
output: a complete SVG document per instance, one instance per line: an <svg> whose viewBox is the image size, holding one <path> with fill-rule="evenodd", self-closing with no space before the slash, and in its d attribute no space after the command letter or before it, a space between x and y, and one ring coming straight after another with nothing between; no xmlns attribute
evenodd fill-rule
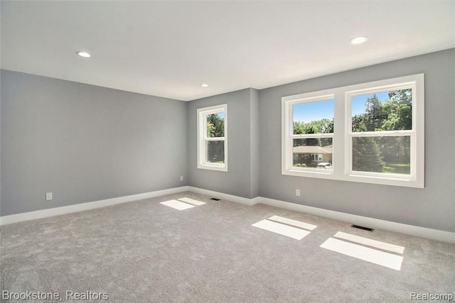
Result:
<svg viewBox="0 0 455 303"><path fill-rule="evenodd" d="M228 104L198 109L198 168L228 171Z"/></svg>

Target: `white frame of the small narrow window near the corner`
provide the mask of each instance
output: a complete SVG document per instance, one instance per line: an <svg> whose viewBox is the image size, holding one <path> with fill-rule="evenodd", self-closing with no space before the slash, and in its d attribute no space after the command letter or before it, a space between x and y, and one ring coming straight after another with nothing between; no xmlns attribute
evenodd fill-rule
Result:
<svg viewBox="0 0 455 303"><path fill-rule="evenodd" d="M211 138L207 136L207 116L210 114L225 113L225 136ZM204 107L198 109L198 168L203 170L228 171L228 104ZM207 142L224 141L225 160L224 163L207 162Z"/></svg>

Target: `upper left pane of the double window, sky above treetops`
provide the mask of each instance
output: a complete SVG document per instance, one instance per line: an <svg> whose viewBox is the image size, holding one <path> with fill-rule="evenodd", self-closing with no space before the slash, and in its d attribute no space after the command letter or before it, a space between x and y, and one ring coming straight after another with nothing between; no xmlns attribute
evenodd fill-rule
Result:
<svg viewBox="0 0 455 303"><path fill-rule="evenodd" d="M333 133L333 99L302 102L292 106L294 135Z"/></svg>

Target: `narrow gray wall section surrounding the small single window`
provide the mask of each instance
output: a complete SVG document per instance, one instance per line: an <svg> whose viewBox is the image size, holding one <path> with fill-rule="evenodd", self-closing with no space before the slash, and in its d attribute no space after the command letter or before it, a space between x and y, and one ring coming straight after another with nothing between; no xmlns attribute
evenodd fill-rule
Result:
<svg viewBox="0 0 455 303"><path fill-rule="evenodd" d="M228 104L228 172L198 169L197 109ZM257 170L259 138L256 89L242 89L218 96L193 100L188 106L188 184L238 197L254 198L259 194ZM252 119L252 116L254 118ZM257 125L255 125L257 123Z"/></svg>

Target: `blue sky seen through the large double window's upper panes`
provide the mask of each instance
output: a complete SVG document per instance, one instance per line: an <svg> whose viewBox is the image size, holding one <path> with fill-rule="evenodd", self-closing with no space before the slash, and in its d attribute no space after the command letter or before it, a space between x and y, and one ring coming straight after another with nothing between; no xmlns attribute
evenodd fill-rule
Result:
<svg viewBox="0 0 455 303"><path fill-rule="evenodd" d="M389 99L389 92L375 93L380 101ZM352 97L352 115L365 113L365 101L373 97L373 94L363 94L360 96ZM293 120L294 122L301 121L309 123L311 121L318 121L321 119L333 119L333 106L334 100L323 100L314 102L304 102L294 104L293 106Z"/></svg>

